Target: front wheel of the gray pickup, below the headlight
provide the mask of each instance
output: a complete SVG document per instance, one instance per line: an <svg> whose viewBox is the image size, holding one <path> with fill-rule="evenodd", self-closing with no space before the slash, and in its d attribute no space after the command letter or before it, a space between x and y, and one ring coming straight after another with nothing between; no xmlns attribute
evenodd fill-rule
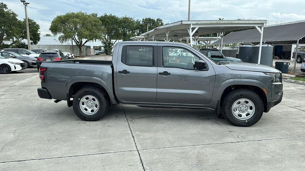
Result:
<svg viewBox="0 0 305 171"><path fill-rule="evenodd" d="M222 110L224 117L231 124L239 127L249 127L256 124L262 117L264 104L255 92L247 89L237 89L224 98ZM235 114L233 114L233 111L235 111Z"/></svg>

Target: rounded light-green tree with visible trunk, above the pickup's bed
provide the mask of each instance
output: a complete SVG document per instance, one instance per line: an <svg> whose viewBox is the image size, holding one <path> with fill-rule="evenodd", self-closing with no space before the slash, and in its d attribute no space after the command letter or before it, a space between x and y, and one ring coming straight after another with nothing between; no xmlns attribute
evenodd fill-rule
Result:
<svg viewBox="0 0 305 171"><path fill-rule="evenodd" d="M79 56L82 56L81 47L88 41L102 39L104 32L101 21L96 13L68 12L65 15L56 16L49 29L53 35L59 35L61 43L72 39L79 48Z"/></svg>

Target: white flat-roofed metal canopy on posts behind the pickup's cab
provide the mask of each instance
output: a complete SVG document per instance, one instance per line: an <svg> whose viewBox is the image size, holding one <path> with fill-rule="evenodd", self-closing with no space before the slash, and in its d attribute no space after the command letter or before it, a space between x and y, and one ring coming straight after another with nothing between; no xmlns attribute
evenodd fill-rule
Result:
<svg viewBox="0 0 305 171"><path fill-rule="evenodd" d="M256 28L260 33L260 49L258 63L260 63L261 45L264 32L264 26L267 20L191 20L191 21L178 21L175 23L166 24L149 30L141 34L143 40L156 37L162 37L165 41L170 41L173 38L186 38L189 37L191 46L193 46L193 39L197 40L200 35L218 33L222 38L225 32L243 30L249 28ZM195 41L196 42L196 41ZM222 51L222 43L221 43Z"/></svg>

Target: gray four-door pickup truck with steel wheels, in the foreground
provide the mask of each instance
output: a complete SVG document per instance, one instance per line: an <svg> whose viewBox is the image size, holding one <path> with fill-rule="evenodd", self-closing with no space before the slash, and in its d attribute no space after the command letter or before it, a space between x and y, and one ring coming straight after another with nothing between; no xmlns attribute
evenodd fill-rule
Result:
<svg viewBox="0 0 305 171"><path fill-rule="evenodd" d="M172 50L184 50L172 60ZM181 43L126 41L112 61L43 62L39 71L45 99L66 100L78 117L100 119L116 104L215 110L236 126L257 123L281 102L282 73L240 62L214 62Z"/></svg>

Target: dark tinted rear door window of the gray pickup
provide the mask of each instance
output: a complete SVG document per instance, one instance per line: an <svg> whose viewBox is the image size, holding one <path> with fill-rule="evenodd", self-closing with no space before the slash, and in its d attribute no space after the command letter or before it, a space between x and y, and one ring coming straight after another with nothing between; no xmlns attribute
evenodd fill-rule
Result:
<svg viewBox="0 0 305 171"><path fill-rule="evenodd" d="M130 66L153 66L152 46L127 46L122 54L122 63Z"/></svg>

